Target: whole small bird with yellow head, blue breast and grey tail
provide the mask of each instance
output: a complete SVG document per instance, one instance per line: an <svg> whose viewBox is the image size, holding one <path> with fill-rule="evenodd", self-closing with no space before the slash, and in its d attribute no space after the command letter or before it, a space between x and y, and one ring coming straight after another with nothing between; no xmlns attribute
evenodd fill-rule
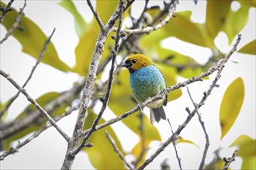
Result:
<svg viewBox="0 0 256 170"><path fill-rule="evenodd" d="M138 104L154 97L166 87L161 71L149 57L143 54L128 56L121 66L126 67L130 72L130 87ZM165 95L162 99L147 104L147 107L150 108L151 124L154 124L155 121L158 123L161 119L166 120L163 105L166 106L167 101L168 96Z"/></svg>

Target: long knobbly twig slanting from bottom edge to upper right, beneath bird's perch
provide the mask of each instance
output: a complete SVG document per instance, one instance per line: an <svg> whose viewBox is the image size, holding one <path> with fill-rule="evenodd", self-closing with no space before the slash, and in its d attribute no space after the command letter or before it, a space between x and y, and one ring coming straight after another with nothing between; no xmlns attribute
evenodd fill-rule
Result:
<svg viewBox="0 0 256 170"><path fill-rule="evenodd" d="M186 120L184 121L184 123L182 125L180 125L178 127L178 129L175 131L174 134L180 134L181 131L186 127L187 124L189 124L189 121L191 121L192 117L195 116L195 113L199 111L199 108L204 104L204 102L206 101L207 97L209 97L209 95L211 94L212 90L214 87L216 87L216 83L217 81L220 79L220 73L222 73L224 64L227 63L228 59L230 59L230 56L232 56L232 54L237 50L237 46L240 42L241 39L241 35L238 35L237 38L237 42L234 44L233 49L230 50L230 53L227 55L227 57L225 59L223 59L219 64L218 64L218 72L217 75L215 77L215 79L213 80L213 83L210 85L209 89L207 90L207 92L203 93L203 97L202 100L199 102L198 107L196 107L190 114L189 116L186 118ZM168 88L169 90L169 88ZM168 91L167 90L167 91ZM164 93L165 94L165 93ZM163 95L164 95L163 94ZM148 164L150 164L150 162L153 162L154 158L157 157L157 155L159 155L161 153L161 151L164 151L164 148L166 148L168 145L171 144L172 141L175 140L175 135L171 135L170 138L168 138L167 141L164 142L163 145L161 145L160 148L157 149L157 151L154 152L153 155L150 156L150 158L148 158L143 165L141 165L139 168L137 168L138 170L144 169Z"/></svg>

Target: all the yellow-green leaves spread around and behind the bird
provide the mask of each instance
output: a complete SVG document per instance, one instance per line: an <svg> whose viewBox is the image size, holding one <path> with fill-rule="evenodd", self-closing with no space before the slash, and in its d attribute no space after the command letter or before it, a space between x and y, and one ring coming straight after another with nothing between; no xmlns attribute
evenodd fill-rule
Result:
<svg viewBox="0 0 256 170"><path fill-rule="evenodd" d="M119 1L97 1L96 9L99 12L99 16L102 19L103 24L108 22L109 17L114 12ZM206 22L205 23L196 23L192 22L191 15L192 12L176 12L175 18L171 19L170 23L164 26L162 29L158 29L156 32L150 32L149 35L140 35L139 39L134 39L134 44L140 49L145 55L150 56L157 67L163 73L167 86L171 86L177 83L177 77L182 76L184 78L191 78L192 76L198 76L203 71L207 70L206 66L202 66L196 62L195 56L185 56L182 53L178 53L172 49L164 49L161 46L161 42L164 39L169 37L176 37L184 42L190 42L197 46L203 46L209 48L215 53L218 51L219 58L225 56L223 53L220 53L220 50L216 48L214 40L220 32L225 32L229 42L231 43L234 37L239 33L244 26L247 24L248 12L251 7L255 7L255 1L237 1L240 4L240 8L237 11L231 9L231 4L233 1L227 0L223 1L220 5L220 2L217 1L208 1L206 7ZM92 59L92 54L95 49L95 42L99 36L99 25L93 19L92 22L85 22L85 19L82 18L81 14L78 12L77 8L74 5L74 2L71 0L62 0L58 2L61 7L65 8L67 12L70 12L74 17L74 28L78 35L79 42L75 48L75 59L76 63L74 68L69 68L66 63L62 62L57 55L57 51L54 48L54 44L50 42L46 53L43 56L42 62L50 66L53 66L57 70L64 72L72 71L78 73L79 76L87 76L89 65ZM3 2L1 5L6 6ZM128 10L127 10L128 11ZM154 20L155 17L161 12L160 8L151 8L147 9L147 19L145 19L143 26L147 26L150 22ZM10 29L15 22L16 15L18 12L13 9L12 12L9 12L3 20L3 26L5 29ZM125 19L132 19L130 13L126 12L123 15ZM148 21L146 21L148 20ZM140 24L139 24L140 26ZM23 16L20 24L22 30L17 29L13 32L13 37L16 38L19 43L22 45L22 51L24 53L37 58L40 50L43 47L43 42L47 39L47 36L43 31L36 26L36 23ZM105 42L105 49L102 55L100 63L109 59L111 55L111 48L114 44L111 36L114 33L111 33ZM122 42L125 42L126 39L123 39ZM121 43L122 43L121 42ZM242 47L239 52L255 55L255 39L249 42L246 46ZM120 49L120 57L126 57L127 53L133 52L134 46ZM139 50L139 51L140 51ZM136 50L135 50L136 51ZM214 56L214 55L213 55ZM208 57L208 56L207 56ZM132 92L128 82L128 71L120 70L119 73L116 73L112 94L109 100L108 107L112 110L116 116L119 116L131 108L135 107L137 104L133 99ZM101 76L98 75L98 80L101 81ZM104 83L104 82L102 82ZM106 86L102 88L106 89ZM102 91L96 93L96 97L102 95ZM42 106L46 106L51 100L56 99L60 96L60 93L46 93L36 101ZM168 101L178 99L182 96L182 90L174 90L171 93L168 93ZM220 125L221 125L221 138L223 138L227 132L232 128L234 121L236 121L238 115L240 114L240 108L244 101L244 82L241 78L237 78L234 82L230 83L230 86L227 88L224 93L223 100L220 106ZM65 108L69 104L63 104L61 107L58 107L54 111L52 116L61 115L64 113ZM3 104L1 104L1 107ZM31 110L35 108L30 104L16 120L26 117ZM168 114L171 110L166 111ZM95 119L96 114L92 110L88 111L88 117L86 119L85 129L90 128L92 121ZM146 114L144 113L135 113L126 119L123 119L123 124L126 127L130 128L135 134L137 134L140 139L142 139L142 131L140 130L141 120L144 120L144 155L142 153L142 140L138 141L131 151L131 154L134 156L135 160L138 160L140 157L141 162L144 162L147 151L150 149L151 141L161 141L161 135L157 131L157 128L150 124L150 121ZM29 128L26 128L19 133L12 135L9 138L5 139L5 149L10 148L12 141L16 141L19 138L24 137L30 132L37 131L40 127L45 124L44 119L39 119L34 124L31 124ZM101 120L99 123L102 124L105 122ZM106 140L104 131L108 131L112 135L112 138L116 141L117 146L126 155L123 151L123 148L120 144L119 138L117 138L115 131L111 127L106 127L104 130L96 131L95 134L90 138L90 142L94 144L92 148L85 148L83 151L86 151L90 162L95 168L124 168L123 162L117 157L116 153L112 151L112 146L109 144L109 141ZM195 145L193 141L185 140L179 138L178 142L185 142L192 145ZM102 145L104 144L104 145ZM240 151L238 155L244 158L242 168L255 168L255 140L247 137L245 135L237 138L236 141L231 146L238 146ZM197 145L196 145L197 146ZM223 167L223 162L221 159L217 159L218 163L217 168ZM216 163L213 162L213 163ZM206 166L207 169L207 166Z"/></svg>

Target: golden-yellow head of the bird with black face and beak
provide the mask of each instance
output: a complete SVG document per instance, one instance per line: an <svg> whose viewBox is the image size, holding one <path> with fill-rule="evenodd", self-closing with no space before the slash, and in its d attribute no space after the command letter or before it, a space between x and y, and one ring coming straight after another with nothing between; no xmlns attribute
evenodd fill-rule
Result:
<svg viewBox="0 0 256 170"><path fill-rule="evenodd" d="M122 64L122 67L126 67L130 73L139 70L145 66L154 65L150 58L142 54L133 54L127 57L126 61Z"/></svg>

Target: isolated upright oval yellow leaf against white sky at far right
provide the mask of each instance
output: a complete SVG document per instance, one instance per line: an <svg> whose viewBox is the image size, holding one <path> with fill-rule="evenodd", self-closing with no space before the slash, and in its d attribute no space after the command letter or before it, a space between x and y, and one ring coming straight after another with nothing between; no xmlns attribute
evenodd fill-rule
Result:
<svg viewBox="0 0 256 170"><path fill-rule="evenodd" d="M244 101L244 81L238 77L224 93L220 106L221 138L227 134L236 121Z"/></svg>

